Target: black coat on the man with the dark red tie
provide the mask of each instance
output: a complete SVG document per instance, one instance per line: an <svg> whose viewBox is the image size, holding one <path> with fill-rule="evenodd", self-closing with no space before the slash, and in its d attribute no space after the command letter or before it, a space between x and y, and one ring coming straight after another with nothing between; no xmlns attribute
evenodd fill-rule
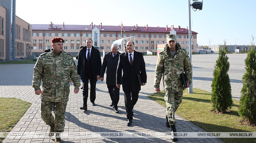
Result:
<svg viewBox="0 0 256 143"><path fill-rule="evenodd" d="M141 73L142 82L147 82L147 74L145 68L145 62L142 53L134 50L132 66L129 62L128 52L121 53L119 55L119 61L117 65L117 78L116 84L120 84L120 77L122 76L123 69L123 91L124 92L138 92L140 91L140 85L137 75Z"/></svg>

